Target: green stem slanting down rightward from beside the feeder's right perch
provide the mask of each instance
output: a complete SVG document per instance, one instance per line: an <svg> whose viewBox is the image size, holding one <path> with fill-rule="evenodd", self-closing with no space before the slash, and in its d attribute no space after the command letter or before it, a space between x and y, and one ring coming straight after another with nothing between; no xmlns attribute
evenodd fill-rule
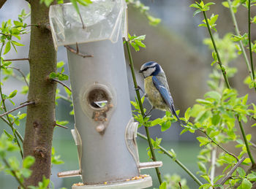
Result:
<svg viewBox="0 0 256 189"><path fill-rule="evenodd" d="M144 136L143 134L137 133L137 135L140 136L140 138L147 140L147 137ZM189 169L187 169L187 167L184 166L184 164L181 163L181 161L178 161L177 158L174 158L173 155L171 155L164 147L160 145L158 145L158 147L163 153L172 158L173 161L175 161L178 164L178 166L181 166L181 168L184 169L184 171L186 171L187 174L189 174L189 176L192 177L192 179L195 180L195 182L197 182L198 185L203 185L203 183L200 182L200 180L198 180L197 177L191 171L189 171Z"/></svg>

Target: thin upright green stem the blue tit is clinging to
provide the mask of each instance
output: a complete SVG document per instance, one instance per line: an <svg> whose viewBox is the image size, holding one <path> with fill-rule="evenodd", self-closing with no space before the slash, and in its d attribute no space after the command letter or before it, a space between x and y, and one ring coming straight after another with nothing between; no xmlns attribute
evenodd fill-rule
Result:
<svg viewBox="0 0 256 189"><path fill-rule="evenodd" d="M129 42L125 41L125 43L127 45L127 52L128 52L128 56L129 56L129 65L130 65L131 72L132 72L133 84L134 84L135 88L138 88L137 80L136 80L136 77L135 77L135 69L134 69L134 66L133 66L132 53L131 53L131 50L130 50L130 47L129 47ZM136 95L137 95L138 102L139 102L139 105L140 105L141 115L144 117L145 114L144 114L142 102L141 102L141 99L140 99L140 91L139 90L135 90L135 91L136 91ZM149 146L149 149L151 151L152 159L153 159L153 161L157 161L156 155L154 154L154 149L153 149L153 145L152 145L152 142L151 142L151 137L150 137L148 128L146 126L144 126L144 128L146 130L146 135L147 135L147 139L148 139L148 146ZM159 183L161 185L161 183L162 183L161 173L160 173L158 167L156 167L155 169L157 171L157 178L158 178Z"/></svg>

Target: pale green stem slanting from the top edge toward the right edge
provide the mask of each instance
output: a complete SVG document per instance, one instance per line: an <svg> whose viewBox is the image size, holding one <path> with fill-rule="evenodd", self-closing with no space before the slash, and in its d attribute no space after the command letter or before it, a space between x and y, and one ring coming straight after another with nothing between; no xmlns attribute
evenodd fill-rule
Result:
<svg viewBox="0 0 256 189"><path fill-rule="evenodd" d="M227 3L229 5L230 14L231 14L234 26L235 26L236 35L240 35L240 31L239 31L238 24L237 24L237 21L236 21L236 15L235 15L235 13L233 11L233 7L232 7L232 4L231 4L231 1L227 0ZM250 77L253 80L252 70L251 70L251 68L249 66L249 60L248 60L246 52L244 50L243 42L240 41L239 43L240 43L240 47L241 47L242 53L244 55L244 60L246 62L247 69L249 70ZM256 90L256 86L255 86L255 90Z"/></svg>

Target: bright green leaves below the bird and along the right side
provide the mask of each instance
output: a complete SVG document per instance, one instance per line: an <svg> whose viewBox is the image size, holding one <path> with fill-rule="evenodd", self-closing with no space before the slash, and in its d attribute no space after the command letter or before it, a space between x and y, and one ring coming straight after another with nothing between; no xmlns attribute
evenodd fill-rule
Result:
<svg viewBox="0 0 256 189"><path fill-rule="evenodd" d="M255 1L252 1L251 5L255 5ZM237 9L238 4L243 4L244 7L248 8L248 1L233 1L232 7ZM196 8L194 16L200 12L203 12L206 18L206 12L210 9L210 6L214 5L213 2L208 2L204 4L203 1L200 3L195 2L190 7ZM227 7L227 4L223 4ZM231 67L230 63L238 58L241 54L241 48L238 46L237 42L242 41L244 47L249 44L248 34L243 36L236 36L233 34L225 34L221 39L217 34L217 18L219 15L211 15L211 18L206 18L203 20L203 26L211 29L216 33L211 36L210 39L205 39L204 43L208 45L210 50L213 50L212 57L214 61L211 62L212 73L209 75L210 80L208 81L210 91L208 91L203 99L197 99L197 104L193 107L189 107L181 117L186 124L181 124L184 130L181 134L189 131L195 133L195 131L200 131L203 136L197 136L202 150L197 156L198 161L198 171L197 174L203 178L204 184L200 185L200 188L225 188L225 185L220 185L222 179L227 175L233 166L238 162L238 158L242 158L244 155L248 154L249 158L246 158L242 164L246 167L238 167L236 171L233 171L232 177L227 178L226 184L230 185L227 188L238 187L238 188L252 188L252 183L255 182L255 171L252 170L255 166L254 159L252 158L249 147L251 144L252 135L247 134L239 136L236 132L236 119L238 119L239 126L242 133L244 132L244 126L242 123L247 123L248 120L256 120L256 106L254 103L247 102L248 94L245 96L239 96L238 91L234 88L230 88L228 85L226 87L225 83L228 82L228 78L235 77L237 68ZM252 19L253 20L253 19ZM253 23L253 22L252 22ZM252 44L252 47L255 45ZM253 48L252 48L253 49ZM218 50L218 51L217 51ZM252 52L254 52L252 50ZM220 62L222 60L222 62ZM227 80L224 80L227 77ZM255 86L255 81L250 80L247 77L245 83L249 85L250 88ZM144 98L142 98L143 102ZM139 122L139 126L161 126L162 131L166 131L170 128L173 122L178 121L176 117L173 117L170 112L166 112L166 115L162 118L157 118L155 120L149 120L149 117L143 117L140 112L139 101L136 99L131 102L133 107L135 107L134 117L135 120ZM145 112L146 109L143 109ZM177 111L178 114L178 111ZM252 126L256 126L254 123ZM227 144L230 142L236 142L236 148L239 149L238 156L229 153L222 147L222 144ZM156 138L156 140L151 140L154 149L159 149L159 145L162 139ZM214 155L212 152L216 147L219 147L222 152L212 157ZM161 151L159 151L161 152ZM176 153L172 152L173 157L176 157ZM148 158L151 157L151 151L148 150ZM216 158L215 163L211 161ZM212 177L211 171L214 167L218 166L223 171L222 174L215 175ZM250 171L245 171L249 169ZM214 174L213 174L214 175ZM173 179L174 180L174 179ZM180 187L180 186L179 186ZM167 182L162 182L159 188L167 188Z"/></svg>

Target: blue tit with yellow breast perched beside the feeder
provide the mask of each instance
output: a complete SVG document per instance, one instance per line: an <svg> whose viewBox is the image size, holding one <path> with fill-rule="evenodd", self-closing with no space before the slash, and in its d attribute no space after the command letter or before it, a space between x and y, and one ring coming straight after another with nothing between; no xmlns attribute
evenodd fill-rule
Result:
<svg viewBox="0 0 256 189"><path fill-rule="evenodd" d="M178 122L181 123L180 118L176 114L173 98L170 95L169 86L162 67L157 62L150 61L144 63L139 72L144 76L146 97L151 104L151 109L146 115L154 108L162 111L170 111L177 117Z"/></svg>

